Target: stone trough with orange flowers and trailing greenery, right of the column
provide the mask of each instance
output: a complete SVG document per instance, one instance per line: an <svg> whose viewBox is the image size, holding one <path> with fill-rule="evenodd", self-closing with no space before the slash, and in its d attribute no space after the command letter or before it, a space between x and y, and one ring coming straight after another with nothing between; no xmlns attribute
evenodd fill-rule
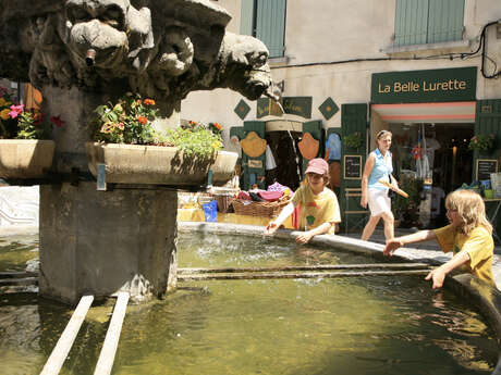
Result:
<svg viewBox="0 0 501 375"><path fill-rule="evenodd" d="M154 128L154 99L127 93L117 103L99 105L90 121L93 142L85 145L89 171L106 165L107 183L223 185L231 179L237 154L221 151L222 126L190 122L160 133Z"/></svg>

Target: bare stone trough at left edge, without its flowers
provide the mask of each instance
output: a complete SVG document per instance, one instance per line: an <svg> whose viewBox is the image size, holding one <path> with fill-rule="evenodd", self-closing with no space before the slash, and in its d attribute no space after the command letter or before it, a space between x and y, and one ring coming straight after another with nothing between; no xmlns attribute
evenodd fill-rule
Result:
<svg viewBox="0 0 501 375"><path fill-rule="evenodd" d="M52 165L52 140L0 139L0 177L41 178Z"/></svg>

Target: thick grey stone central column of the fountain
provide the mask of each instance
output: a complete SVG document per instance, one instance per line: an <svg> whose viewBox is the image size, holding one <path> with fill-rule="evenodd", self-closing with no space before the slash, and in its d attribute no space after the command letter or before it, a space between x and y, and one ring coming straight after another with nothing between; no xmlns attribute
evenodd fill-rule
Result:
<svg viewBox="0 0 501 375"><path fill-rule="evenodd" d="M146 301L175 288L178 193L151 185L98 191L96 182L82 178L88 116L102 100L76 88L44 91L47 112L64 121L54 129L53 172L77 168L81 180L40 187L39 290L70 304L85 293L126 290Z"/></svg>

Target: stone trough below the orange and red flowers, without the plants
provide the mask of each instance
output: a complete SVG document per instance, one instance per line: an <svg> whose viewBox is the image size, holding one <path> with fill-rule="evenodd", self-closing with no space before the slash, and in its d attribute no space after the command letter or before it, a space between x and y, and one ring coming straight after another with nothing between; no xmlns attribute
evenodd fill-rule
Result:
<svg viewBox="0 0 501 375"><path fill-rule="evenodd" d="M97 176L97 164L106 164L106 182L111 184L151 184L200 186L224 185L235 173L239 154L219 151L212 160L185 157L175 147L86 142L88 168Z"/></svg>

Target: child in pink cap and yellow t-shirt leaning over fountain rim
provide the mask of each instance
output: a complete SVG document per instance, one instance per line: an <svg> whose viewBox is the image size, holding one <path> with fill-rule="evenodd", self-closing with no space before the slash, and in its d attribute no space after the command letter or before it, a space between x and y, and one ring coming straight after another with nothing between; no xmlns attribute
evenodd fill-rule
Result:
<svg viewBox="0 0 501 375"><path fill-rule="evenodd" d="M306 243L316 235L334 234L335 226L341 223L341 214L338 198L327 188L328 184L329 164L321 158L311 159L306 167L306 184L295 191L279 216L266 226L265 235L274 234L297 204L301 204L300 229L305 233L297 236L296 242Z"/></svg>

